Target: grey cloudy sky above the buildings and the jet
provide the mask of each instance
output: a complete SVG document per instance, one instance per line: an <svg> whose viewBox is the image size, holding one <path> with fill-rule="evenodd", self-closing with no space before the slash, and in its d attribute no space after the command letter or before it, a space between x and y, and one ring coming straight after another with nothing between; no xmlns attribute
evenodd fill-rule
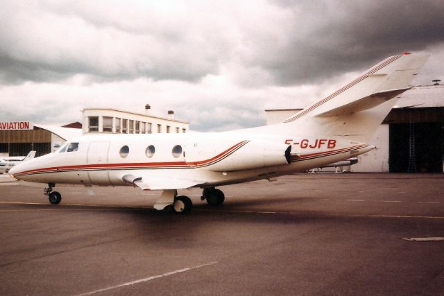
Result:
<svg viewBox="0 0 444 296"><path fill-rule="evenodd" d="M432 56L444 81L436 1L0 0L0 121L65 124L117 107L200 131L305 107L390 55Z"/></svg>

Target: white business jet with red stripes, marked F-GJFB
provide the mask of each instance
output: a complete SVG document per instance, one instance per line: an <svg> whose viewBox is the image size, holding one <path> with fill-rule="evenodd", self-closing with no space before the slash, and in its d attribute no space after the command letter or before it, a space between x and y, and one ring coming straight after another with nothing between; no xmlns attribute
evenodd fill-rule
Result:
<svg viewBox="0 0 444 296"><path fill-rule="evenodd" d="M202 200L223 204L216 187L271 180L341 162L373 150L373 133L411 88L428 55L386 58L330 96L282 123L231 132L187 134L85 134L55 153L11 169L19 180L48 184L134 186L162 191L154 208L183 214L191 200L178 190L203 189Z"/></svg>

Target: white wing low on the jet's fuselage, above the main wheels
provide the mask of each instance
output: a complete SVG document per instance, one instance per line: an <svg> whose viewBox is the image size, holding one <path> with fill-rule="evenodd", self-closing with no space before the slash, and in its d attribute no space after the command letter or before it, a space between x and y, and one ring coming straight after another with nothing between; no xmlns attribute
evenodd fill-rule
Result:
<svg viewBox="0 0 444 296"><path fill-rule="evenodd" d="M169 190L169 189L187 189L197 184L205 182L200 180L191 180L181 177L160 177L160 176L144 176L144 175L124 175L123 182L133 184L142 190Z"/></svg>

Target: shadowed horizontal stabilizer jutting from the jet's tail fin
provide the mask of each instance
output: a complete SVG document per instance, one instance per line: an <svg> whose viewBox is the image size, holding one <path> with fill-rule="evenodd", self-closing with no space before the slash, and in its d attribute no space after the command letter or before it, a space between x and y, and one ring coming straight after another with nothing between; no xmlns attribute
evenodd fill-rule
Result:
<svg viewBox="0 0 444 296"><path fill-rule="evenodd" d="M391 98L395 98L395 96L402 94L408 89L411 89L411 87L402 89L390 89L384 92L376 92L374 94L370 94L370 96L365 96L364 98L360 98L359 100L353 101L352 103L349 103L347 105L342 105L332 110L328 110L327 112L317 114L316 117L341 116L368 110L390 100Z"/></svg>

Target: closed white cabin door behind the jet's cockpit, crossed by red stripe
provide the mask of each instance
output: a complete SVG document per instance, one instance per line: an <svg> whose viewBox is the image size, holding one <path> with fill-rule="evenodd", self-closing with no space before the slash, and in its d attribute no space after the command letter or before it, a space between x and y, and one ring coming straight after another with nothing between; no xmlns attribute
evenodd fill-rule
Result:
<svg viewBox="0 0 444 296"><path fill-rule="evenodd" d="M94 141L89 143L87 153L87 164L90 166L88 171L89 182L94 185L110 185L108 170L103 169L103 164L108 164L108 151L110 150L109 141Z"/></svg>

